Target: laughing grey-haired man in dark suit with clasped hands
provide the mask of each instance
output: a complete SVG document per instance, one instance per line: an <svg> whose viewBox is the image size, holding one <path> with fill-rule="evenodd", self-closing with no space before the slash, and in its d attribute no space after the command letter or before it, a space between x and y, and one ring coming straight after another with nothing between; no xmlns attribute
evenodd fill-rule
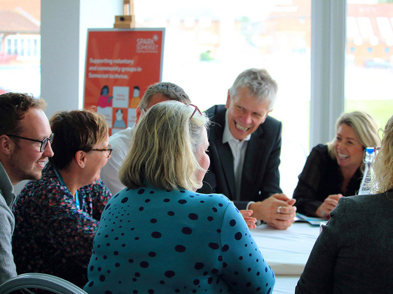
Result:
<svg viewBox="0 0 393 294"><path fill-rule="evenodd" d="M277 83L266 70L248 69L235 79L225 105L206 113L210 168L199 190L222 193L237 208L277 229L294 221L295 199L280 188L281 122L268 116L277 96Z"/></svg>

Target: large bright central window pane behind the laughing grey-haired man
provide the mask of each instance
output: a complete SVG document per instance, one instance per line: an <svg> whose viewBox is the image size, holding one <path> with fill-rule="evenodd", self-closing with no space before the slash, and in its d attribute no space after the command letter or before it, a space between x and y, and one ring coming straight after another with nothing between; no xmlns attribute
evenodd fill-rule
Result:
<svg viewBox="0 0 393 294"><path fill-rule="evenodd" d="M135 11L141 27L166 27L163 81L184 88L200 109L225 104L245 69L266 68L276 79L271 116L283 123L281 187L291 196L309 152L311 0L149 0L136 1Z"/></svg>

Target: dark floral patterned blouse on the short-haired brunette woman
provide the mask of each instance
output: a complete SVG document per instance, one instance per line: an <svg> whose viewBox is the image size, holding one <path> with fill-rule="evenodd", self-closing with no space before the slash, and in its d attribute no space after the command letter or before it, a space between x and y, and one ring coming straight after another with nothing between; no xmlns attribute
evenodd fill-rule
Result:
<svg viewBox="0 0 393 294"><path fill-rule="evenodd" d="M29 181L16 197L12 251L18 274L48 273L84 286L94 234L112 195L101 180L77 195L81 210L48 163L41 179Z"/></svg>

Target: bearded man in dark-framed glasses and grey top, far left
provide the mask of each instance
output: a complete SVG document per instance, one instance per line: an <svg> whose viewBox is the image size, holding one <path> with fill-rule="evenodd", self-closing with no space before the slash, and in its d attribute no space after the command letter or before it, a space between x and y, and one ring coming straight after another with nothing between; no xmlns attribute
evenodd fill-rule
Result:
<svg viewBox="0 0 393 294"><path fill-rule="evenodd" d="M39 179L47 158L53 156L45 107L43 99L25 94L0 95L0 284L16 276L11 251L13 186Z"/></svg>

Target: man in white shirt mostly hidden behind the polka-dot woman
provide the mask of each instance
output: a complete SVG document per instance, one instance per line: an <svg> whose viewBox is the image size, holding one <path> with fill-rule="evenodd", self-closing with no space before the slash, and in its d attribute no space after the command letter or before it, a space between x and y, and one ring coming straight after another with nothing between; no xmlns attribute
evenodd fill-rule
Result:
<svg viewBox="0 0 393 294"><path fill-rule="evenodd" d="M142 115L150 107L166 100L180 101L184 104L191 102L184 90L175 84L162 82L150 85L137 107L136 123L139 122ZM131 149L134 130L135 127L128 127L109 138L109 144L112 146L113 153L108 163L101 169L101 180L109 188L112 195L125 188L119 180L118 171L128 151Z"/></svg>

